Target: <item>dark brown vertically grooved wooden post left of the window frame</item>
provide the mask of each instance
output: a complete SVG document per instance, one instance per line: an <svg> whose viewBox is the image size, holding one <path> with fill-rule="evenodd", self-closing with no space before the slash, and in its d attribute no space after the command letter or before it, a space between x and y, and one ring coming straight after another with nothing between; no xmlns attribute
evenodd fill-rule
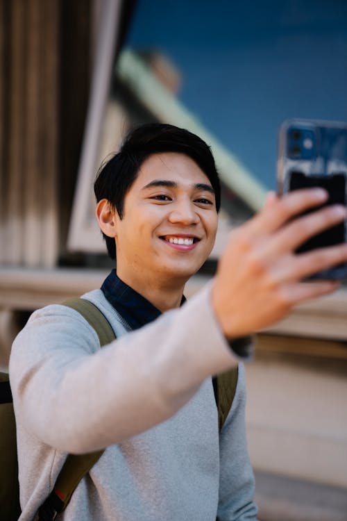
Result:
<svg viewBox="0 0 347 521"><path fill-rule="evenodd" d="M89 90L90 0L0 0L0 263L54 267Z"/></svg>

